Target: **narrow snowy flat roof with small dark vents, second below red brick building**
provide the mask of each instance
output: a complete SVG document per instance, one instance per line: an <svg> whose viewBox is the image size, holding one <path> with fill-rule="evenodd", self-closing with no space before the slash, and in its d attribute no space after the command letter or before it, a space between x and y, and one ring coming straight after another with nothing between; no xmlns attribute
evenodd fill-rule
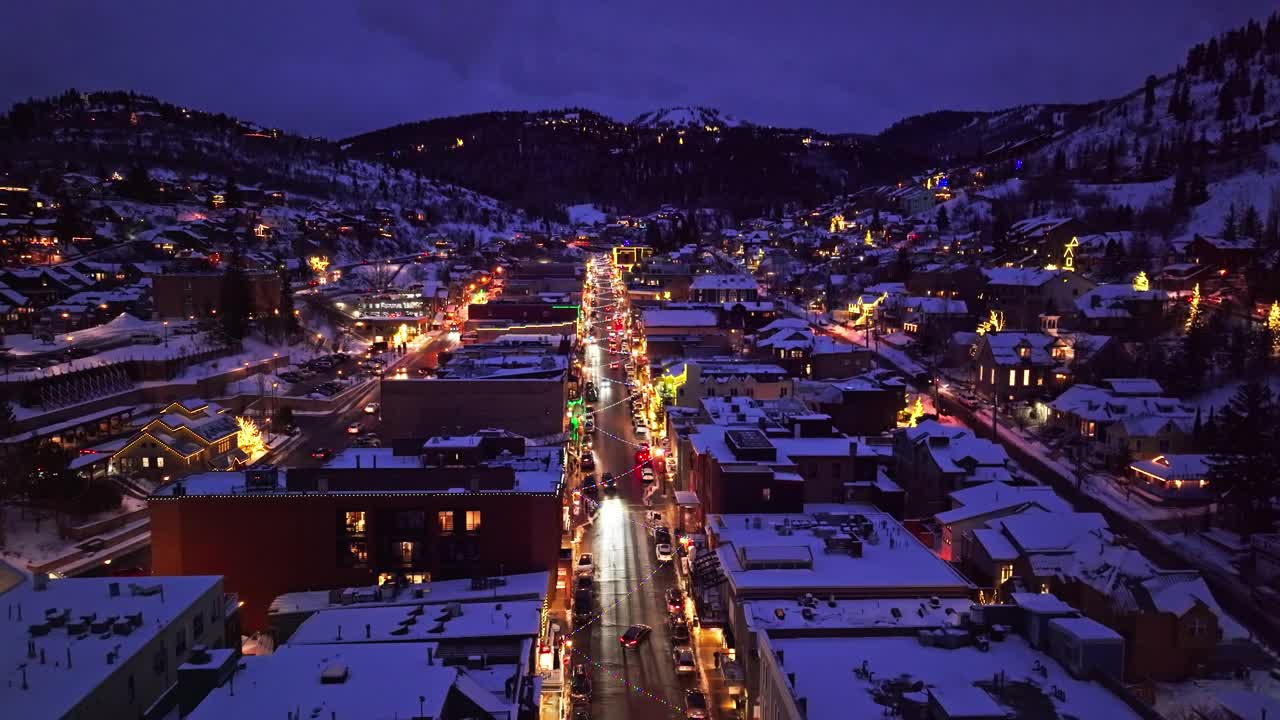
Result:
<svg viewBox="0 0 1280 720"><path fill-rule="evenodd" d="M289 644L436 642L460 638L538 635L543 602L516 600L453 605L321 610L302 621ZM367 633L366 633L367 628Z"/></svg>

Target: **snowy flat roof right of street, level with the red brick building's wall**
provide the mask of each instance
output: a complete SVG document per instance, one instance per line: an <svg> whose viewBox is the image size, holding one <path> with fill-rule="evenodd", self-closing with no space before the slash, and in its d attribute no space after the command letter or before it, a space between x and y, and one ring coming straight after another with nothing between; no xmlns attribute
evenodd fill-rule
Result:
<svg viewBox="0 0 1280 720"><path fill-rule="evenodd" d="M831 552L831 544L854 541L841 525L861 516L861 557ZM817 532L815 532L817 528ZM801 514L712 515L721 568L736 592L758 597L797 593L849 596L969 597L973 584L924 547L892 516L870 505L806 505ZM823 536L831 536L828 537ZM762 556L778 550L812 561L772 564Z"/></svg>

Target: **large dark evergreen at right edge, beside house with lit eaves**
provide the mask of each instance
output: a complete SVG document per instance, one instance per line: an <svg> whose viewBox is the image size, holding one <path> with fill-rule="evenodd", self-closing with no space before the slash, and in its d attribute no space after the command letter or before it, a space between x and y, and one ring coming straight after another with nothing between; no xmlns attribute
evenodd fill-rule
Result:
<svg viewBox="0 0 1280 720"><path fill-rule="evenodd" d="M1222 410L1221 432L1206 479L1234 510L1236 529L1248 536L1271 528L1276 464L1280 462L1277 416L1263 382L1240 386Z"/></svg>

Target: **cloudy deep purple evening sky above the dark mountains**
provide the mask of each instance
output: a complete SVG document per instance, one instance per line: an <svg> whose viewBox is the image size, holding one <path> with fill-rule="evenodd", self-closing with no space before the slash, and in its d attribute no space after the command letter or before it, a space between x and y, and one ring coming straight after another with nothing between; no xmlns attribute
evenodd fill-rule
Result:
<svg viewBox="0 0 1280 720"><path fill-rule="evenodd" d="M1270 0L4 3L0 105L131 88L307 135L495 109L710 105L878 132L1121 95Z"/></svg>

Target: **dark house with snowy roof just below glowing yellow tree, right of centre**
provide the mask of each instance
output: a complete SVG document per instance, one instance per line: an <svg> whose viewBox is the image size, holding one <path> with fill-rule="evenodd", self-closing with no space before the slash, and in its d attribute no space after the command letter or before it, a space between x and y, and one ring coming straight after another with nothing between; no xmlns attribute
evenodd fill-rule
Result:
<svg viewBox="0 0 1280 720"><path fill-rule="evenodd" d="M933 515L947 509L948 493L964 487L1012 483L1009 454L972 430L924 420L893 436L893 480L908 493L908 511Z"/></svg>

